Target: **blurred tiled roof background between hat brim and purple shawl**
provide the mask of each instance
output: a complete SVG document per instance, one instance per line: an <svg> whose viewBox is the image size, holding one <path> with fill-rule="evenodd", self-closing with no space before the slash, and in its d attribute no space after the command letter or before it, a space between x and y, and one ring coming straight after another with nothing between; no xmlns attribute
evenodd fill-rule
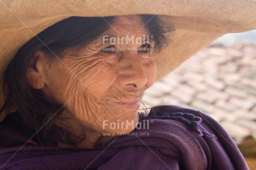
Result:
<svg viewBox="0 0 256 170"><path fill-rule="evenodd" d="M220 37L147 89L142 102L209 114L256 169L256 30Z"/></svg>

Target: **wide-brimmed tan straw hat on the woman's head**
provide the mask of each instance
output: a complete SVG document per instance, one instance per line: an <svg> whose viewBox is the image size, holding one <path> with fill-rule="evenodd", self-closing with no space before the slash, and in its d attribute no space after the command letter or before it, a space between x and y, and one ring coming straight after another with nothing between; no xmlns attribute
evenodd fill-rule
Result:
<svg viewBox="0 0 256 170"><path fill-rule="evenodd" d="M157 14L176 28L170 45L156 56L157 80L223 34L256 29L253 0L1 0L1 70L24 43L62 19L126 14Z"/></svg>

